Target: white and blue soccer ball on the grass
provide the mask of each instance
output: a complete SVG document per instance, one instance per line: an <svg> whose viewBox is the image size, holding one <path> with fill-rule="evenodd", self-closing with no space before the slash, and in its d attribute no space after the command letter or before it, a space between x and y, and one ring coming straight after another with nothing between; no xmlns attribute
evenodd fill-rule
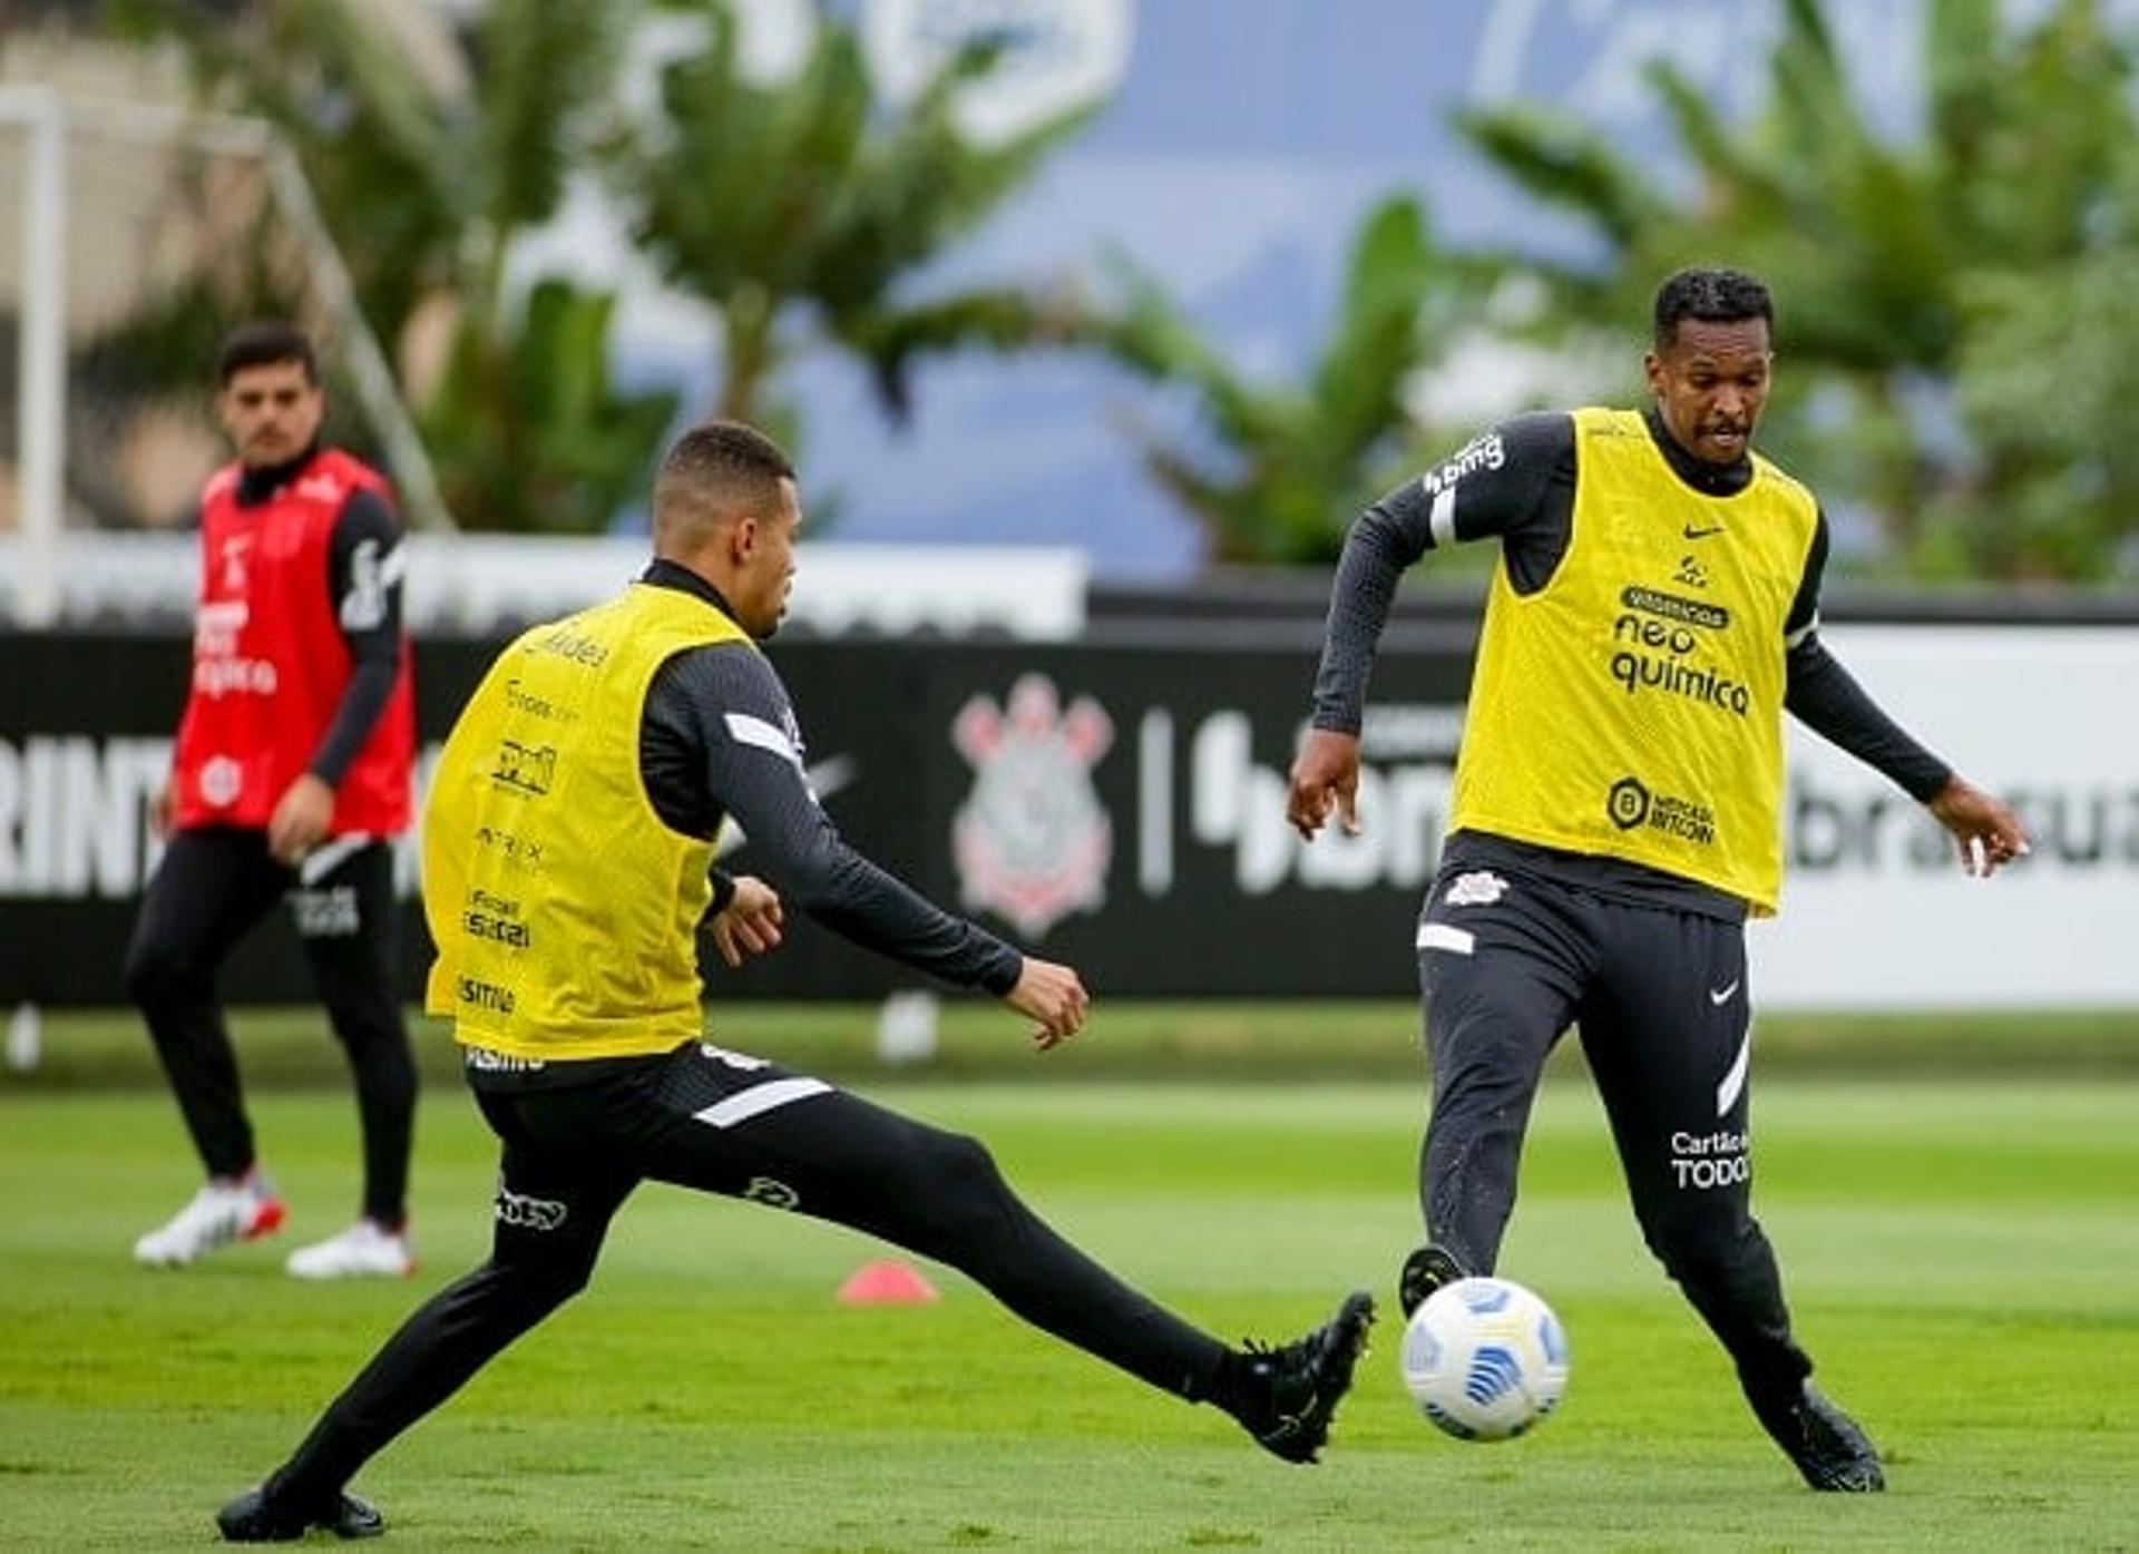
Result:
<svg viewBox="0 0 2139 1554"><path fill-rule="evenodd" d="M1568 1336L1553 1308L1506 1278L1442 1285L1403 1330L1403 1385L1459 1441L1508 1441L1568 1389Z"/></svg>

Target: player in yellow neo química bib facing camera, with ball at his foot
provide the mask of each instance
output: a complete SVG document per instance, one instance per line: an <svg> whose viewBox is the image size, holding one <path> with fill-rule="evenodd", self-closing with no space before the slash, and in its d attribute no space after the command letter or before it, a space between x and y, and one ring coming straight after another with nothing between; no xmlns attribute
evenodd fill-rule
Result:
<svg viewBox="0 0 2139 1554"><path fill-rule="evenodd" d="M2028 840L1820 646L1827 522L1752 451L1767 286L1679 271L1653 327L1653 408L1514 417L1352 526L1288 819L1305 838L1333 814L1358 829L1360 710L1397 579L1437 545L1497 539L1418 926L1431 1240L1403 1265L1403 1310L1493 1272L1538 1075L1579 1022L1643 1236L1754 1415L1816 1490L1878 1490L1872 1443L1810 1385L1750 1212L1743 923L1775 911L1782 879L1782 714L1929 806L1972 872Z"/></svg>

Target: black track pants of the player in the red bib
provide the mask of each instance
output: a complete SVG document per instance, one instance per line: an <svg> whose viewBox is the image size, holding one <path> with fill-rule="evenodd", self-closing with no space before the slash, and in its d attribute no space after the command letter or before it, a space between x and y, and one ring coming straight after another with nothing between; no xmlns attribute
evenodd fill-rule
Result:
<svg viewBox="0 0 2139 1554"><path fill-rule="evenodd" d="M126 949L126 990L148 1020L207 1174L244 1174L252 1165L252 1122L216 975L284 898L357 1086L359 1208L394 1225L406 1212L415 1058L400 1007L394 853L385 842L329 840L291 870L267 853L265 832L178 832L141 902Z"/></svg>

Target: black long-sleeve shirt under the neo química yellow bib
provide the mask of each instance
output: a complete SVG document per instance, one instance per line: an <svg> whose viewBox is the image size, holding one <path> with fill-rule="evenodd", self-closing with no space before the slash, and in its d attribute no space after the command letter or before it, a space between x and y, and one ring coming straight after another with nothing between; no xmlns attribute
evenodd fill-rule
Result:
<svg viewBox="0 0 2139 1554"><path fill-rule="evenodd" d="M1752 481L1752 460L1707 464L1681 449L1656 410L1647 413L1671 470L1696 492L1735 496ZM1497 445L1497 447L1495 447ZM1478 457L1467 457L1476 449ZM1407 481L1360 513L1345 539L1330 590L1328 639L1315 673L1313 727L1358 733L1373 650L1388 622L1397 581L1440 543L1497 537L1508 584L1534 594L1551 581L1574 532L1574 417L1532 413L1502 421L1427 481ZM1827 515L1820 513L1805 575L1784 635L1784 708L1807 729L1872 765L1910 797L1934 797L1953 770L1880 712L1863 686L1818 639L1820 577L1827 569ZM1514 868L1632 896L1645 902L1741 917L1743 902L1662 870L1619 859L1561 853L1508 838L1450 838L1455 866Z"/></svg>

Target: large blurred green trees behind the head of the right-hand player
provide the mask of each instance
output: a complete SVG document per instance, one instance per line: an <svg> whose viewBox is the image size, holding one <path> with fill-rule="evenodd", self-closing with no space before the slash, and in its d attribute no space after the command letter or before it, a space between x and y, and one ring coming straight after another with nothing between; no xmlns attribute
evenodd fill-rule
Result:
<svg viewBox="0 0 2139 1554"><path fill-rule="evenodd" d="M2128 438L2096 440L2139 263L2133 62L2096 0L2026 28L1996 0L1923 6L1925 120L1872 122L1816 0L1788 0L1765 107L1741 124L1668 64L1649 81L1694 180L1673 190L1536 107L1467 113L1510 177L1587 227L1594 254L1534 261L1553 340L1634 331L1668 269L1778 280L1778 398L1763 442L1855 496L1893 569L2105 577L2139 528ZM2092 301L2092 306L2088 306ZM2079 304L2079 306L2075 306ZM1630 376L1632 387L1632 376Z"/></svg>

